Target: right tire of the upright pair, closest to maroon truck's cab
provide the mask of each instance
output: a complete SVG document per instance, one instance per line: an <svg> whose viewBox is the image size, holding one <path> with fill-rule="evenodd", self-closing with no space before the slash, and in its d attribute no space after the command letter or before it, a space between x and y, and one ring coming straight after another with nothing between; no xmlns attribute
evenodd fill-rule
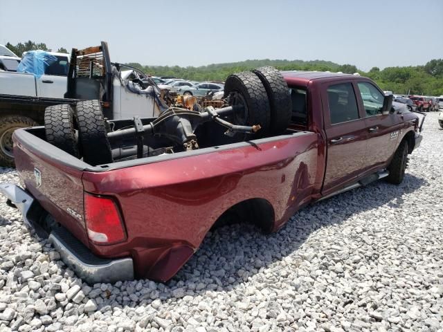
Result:
<svg viewBox="0 0 443 332"><path fill-rule="evenodd" d="M287 129L291 121L292 102L289 87L280 71L271 66L257 68L253 73L262 81L269 98L271 107L269 133L279 135Z"/></svg>

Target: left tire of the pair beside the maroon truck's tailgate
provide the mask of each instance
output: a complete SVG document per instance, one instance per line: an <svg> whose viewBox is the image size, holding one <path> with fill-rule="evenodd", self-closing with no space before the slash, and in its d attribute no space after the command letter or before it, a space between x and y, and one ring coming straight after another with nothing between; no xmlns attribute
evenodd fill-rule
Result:
<svg viewBox="0 0 443 332"><path fill-rule="evenodd" d="M74 111L69 104L46 107L44 111L46 141L80 158L78 133L74 129Z"/></svg>

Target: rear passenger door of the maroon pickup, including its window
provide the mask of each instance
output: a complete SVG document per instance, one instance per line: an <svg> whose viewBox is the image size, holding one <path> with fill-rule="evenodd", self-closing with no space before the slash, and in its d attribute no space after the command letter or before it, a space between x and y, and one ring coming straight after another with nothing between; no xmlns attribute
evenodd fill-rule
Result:
<svg viewBox="0 0 443 332"><path fill-rule="evenodd" d="M324 84L327 159L323 194L351 183L364 167L367 131L352 82Z"/></svg>

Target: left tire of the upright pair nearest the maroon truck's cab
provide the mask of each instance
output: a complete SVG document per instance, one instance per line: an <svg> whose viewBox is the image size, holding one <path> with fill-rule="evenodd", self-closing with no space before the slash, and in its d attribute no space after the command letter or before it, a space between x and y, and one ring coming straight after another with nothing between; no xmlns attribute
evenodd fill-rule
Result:
<svg viewBox="0 0 443 332"><path fill-rule="evenodd" d="M261 138L269 133L271 108L266 89L257 75L248 71L229 75L224 84L224 97L229 97L230 105L242 104L244 106L244 111L234 114L234 124L248 126L260 124L261 127L254 134L236 134L235 138Z"/></svg>

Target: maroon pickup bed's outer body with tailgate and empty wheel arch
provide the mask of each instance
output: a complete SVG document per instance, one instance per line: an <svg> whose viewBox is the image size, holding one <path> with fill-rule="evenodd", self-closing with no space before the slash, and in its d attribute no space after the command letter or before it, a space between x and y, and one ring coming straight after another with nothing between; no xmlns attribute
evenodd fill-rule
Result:
<svg viewBox="0 0 443 332"><path fill-rule="evenodd" d="M130 257L136 277L162 281L177 273L230 208L264 204L269 214L255 218L266 230L278 230L309 202L323 176L317 172L318 136L309 131L288 129L280 136L98 166L50 145L44 127L19 129L13 139L21 185L57 224L93 255ZM89 240L85 193L117 202L125 241L103 246Z"/></svg>

